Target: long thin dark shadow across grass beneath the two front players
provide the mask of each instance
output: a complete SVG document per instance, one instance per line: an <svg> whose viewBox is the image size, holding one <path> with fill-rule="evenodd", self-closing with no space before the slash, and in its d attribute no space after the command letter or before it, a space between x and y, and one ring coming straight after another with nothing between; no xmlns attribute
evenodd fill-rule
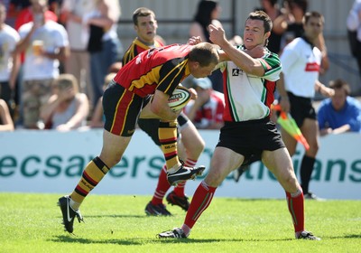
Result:
<svg viewBox="0 0 361 253"><path fill-rule="evenodd" d="M53 242L82 243L82 244L119 244L119 245L143 245L152 244L174 244L174 243L215 243L215 242L245 242L245 241L290 241L292 239L81 239L76 235L56 236L50 239Z"/></svg>

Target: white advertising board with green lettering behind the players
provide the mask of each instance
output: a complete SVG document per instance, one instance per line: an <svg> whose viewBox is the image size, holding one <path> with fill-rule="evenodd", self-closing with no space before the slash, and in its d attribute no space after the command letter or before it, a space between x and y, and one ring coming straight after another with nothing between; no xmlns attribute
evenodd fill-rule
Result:
<svg viewBox="0 0 361 253"><path fill-rule="evenodd" d="M208 167L217 130L203 130L206 148L199 164ZM57 192L68 194L79 182L88 161L99 154L102 130L57 131L16 130L0 133L0 192ZM361 200L361 135L343 134L320 138L319 155L310 190L326 199ZM292 157L298 172L303 148ZM150 137L136 131L124 158L97 185L92 194L151 195L164 163L162 152ZM207 173L207 170L206 170ZM299 173L298 173L299 174ZM201 178L186 185L191 196ZM282 187L263 164L251 169L235 183L232 175L216 196L241 198L283 198Z"/></svg>

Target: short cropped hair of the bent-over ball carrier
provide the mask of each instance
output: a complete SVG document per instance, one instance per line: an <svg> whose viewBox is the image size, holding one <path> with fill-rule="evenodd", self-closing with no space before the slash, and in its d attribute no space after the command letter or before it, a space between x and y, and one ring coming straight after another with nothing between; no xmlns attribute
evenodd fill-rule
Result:
<svg viewBox="0 0 361 253"><path fill-rule="evenodd" d="M219 55L214 45L208 42L201 42L190 50L190 61L198 61L200 67L207 67L211 63L218 64Z"/></svg>

